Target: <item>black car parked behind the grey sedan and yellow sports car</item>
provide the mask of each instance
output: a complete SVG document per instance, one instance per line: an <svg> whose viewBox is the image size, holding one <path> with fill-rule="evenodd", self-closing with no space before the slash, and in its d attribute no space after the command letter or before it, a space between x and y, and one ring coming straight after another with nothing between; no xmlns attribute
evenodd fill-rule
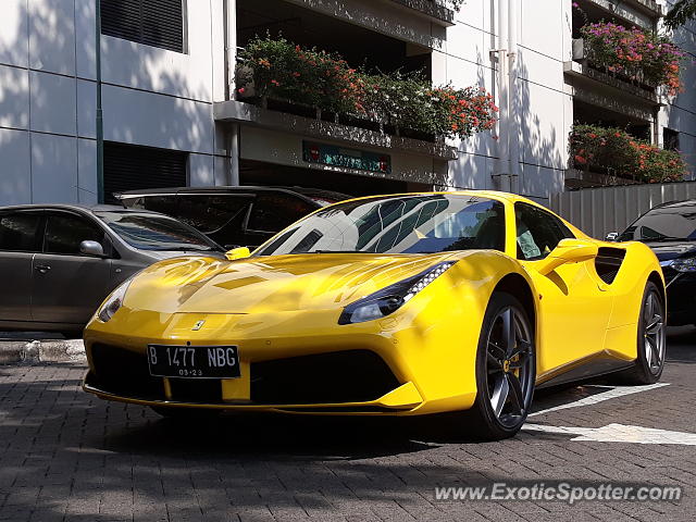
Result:
<svg viewBox="0 0 696 522"><path fill-rule="evenodd" d="M114 195L133 209L161 212L225 248L254 248L316 209L351 196L302 187L174 187Z"/></svg>

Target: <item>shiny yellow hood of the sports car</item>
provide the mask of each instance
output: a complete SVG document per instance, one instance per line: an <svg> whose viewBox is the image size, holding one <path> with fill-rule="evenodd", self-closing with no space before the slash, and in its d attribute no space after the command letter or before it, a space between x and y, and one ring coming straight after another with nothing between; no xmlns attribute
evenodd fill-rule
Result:
<svg viewBox="0 0 696 522"><path fill-rule="evenodd" d="M434 254L322 253L172 259L130 284L124 306L163 313L263 313L326 310L415 275L452 252Z"/></svg>

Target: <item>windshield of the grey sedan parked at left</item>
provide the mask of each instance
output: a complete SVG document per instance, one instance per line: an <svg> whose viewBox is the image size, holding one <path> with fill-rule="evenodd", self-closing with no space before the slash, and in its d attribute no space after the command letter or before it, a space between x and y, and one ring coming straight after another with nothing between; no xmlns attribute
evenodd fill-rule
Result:
<svg viewBox="0 0 696 522"><path fill-rule="evenodd" d="M221 250L196 228L166 215L136 212L98 212L124 241L140 250Z"/></svg>

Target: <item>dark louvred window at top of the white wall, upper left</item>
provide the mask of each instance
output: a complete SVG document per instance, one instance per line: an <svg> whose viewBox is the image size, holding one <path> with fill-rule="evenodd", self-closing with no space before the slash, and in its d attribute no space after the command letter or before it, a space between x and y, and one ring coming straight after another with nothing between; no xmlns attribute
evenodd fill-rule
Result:
<svg viewBox="0 0 696 522"><path fill-rule="evenodd" d="M186 0L101 0L101 33L184 52Z"/></svg>

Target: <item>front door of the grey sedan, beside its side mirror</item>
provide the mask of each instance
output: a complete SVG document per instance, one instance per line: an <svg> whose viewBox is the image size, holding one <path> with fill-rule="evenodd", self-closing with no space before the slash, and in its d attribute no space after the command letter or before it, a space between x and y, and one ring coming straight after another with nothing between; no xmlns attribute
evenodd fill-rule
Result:
<svg viewBox="0 0 696 522"><path fill-rule="evenodd" d="M104 231L84 214L49 211L41 253L34 257L32 316L47 323L86 324L107 297L111 260L85 256L79 244L105 246Z"/></svg>

